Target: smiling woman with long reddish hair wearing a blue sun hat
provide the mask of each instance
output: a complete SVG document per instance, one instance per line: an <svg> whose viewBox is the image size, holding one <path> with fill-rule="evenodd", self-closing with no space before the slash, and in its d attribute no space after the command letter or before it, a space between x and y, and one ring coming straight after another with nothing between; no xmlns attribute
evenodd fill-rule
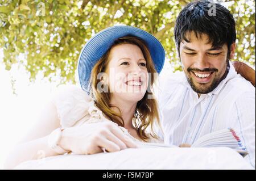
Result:
<svg viewBox="0 0 256 181"><path fill-rule="evenodd" d="M157 141L153 128L159 113L152 85L163 64L162 44L146 31L114 26L97 33L80 53L82 89L64 86L57 92L34 131L10 154L6 168L39 153L94 154Z"/></svg>

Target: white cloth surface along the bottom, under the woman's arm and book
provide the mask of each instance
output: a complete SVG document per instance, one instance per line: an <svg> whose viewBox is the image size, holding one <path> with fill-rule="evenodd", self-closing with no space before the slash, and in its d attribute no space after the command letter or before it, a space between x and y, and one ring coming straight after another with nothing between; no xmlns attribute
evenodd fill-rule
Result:
<svg viewBox="0 0 256 181"><path fill-rule="evenodd" d="M93 155L59 155L15 169L253 169L229 148L126 149Z"/></svg>

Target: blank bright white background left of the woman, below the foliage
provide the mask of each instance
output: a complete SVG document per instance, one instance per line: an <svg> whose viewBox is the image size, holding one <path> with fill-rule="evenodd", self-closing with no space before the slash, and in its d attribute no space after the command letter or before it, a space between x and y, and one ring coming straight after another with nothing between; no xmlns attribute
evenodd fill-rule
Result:
<svg viewBox="0 0 256 181"><path fill-rule="evenodd" d="M35 83L30 83L28 74L18 65L11 71L5 70L2 57L0 49L0 169L10 149L31 129L57 86L40 76ZM12 80L15 80L16 95L13 94Z"/></svg>

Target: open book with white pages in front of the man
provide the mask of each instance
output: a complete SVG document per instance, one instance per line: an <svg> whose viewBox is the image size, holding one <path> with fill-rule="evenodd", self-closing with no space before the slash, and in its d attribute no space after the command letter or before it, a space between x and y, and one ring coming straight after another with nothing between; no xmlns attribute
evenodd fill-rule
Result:
<svg viewBox="0 0 256 181"><path fill-rule="evenodd" d="M143 143L139 145L139 148L159 147L174 148L178 146L158 143ZM191 148L199 147L228 147L236 150L243 157L248 154L246 148L242 145L240 138L237 136L236 132L232 128L222 129L220 131L205 134L191 145Z"/></svg>

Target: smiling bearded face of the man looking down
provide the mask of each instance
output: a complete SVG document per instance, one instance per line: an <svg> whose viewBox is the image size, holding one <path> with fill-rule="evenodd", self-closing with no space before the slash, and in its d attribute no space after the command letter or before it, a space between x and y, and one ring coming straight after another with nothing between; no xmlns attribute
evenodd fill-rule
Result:
<svg viewBox="0 0 256 181"><path fill-rule="evenodd" d="M180 43L180 59L183 71L192 89L198 94L207 94L213 91L221 81L227 68L228 45L212 47L208 43L208 35L196 37L191 32L190 43ZM232 45L233 56L234 46Z"/></svg>

